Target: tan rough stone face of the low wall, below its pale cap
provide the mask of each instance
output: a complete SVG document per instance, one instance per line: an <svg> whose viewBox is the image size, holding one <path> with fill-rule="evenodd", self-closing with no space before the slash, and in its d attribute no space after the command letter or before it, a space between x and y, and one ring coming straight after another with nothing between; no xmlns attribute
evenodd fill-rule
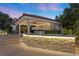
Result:
<svg viewBox="0 0 79 59"><path fill-rule="evenodd" d="M31 47L75 53L75 40L72 39L24 37L23 40Z"/></svg>

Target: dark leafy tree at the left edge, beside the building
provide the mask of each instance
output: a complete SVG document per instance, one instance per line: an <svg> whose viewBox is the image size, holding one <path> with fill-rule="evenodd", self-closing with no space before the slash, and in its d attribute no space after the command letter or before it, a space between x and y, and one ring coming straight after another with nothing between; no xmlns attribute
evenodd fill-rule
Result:
<svg viewBox="0 0 79 59"><path fill-rule="evenodd" d="M13 19L8 14L0 12L0 29L1 30L7 29L9 31L10 27L11 27L10 24L11 24L12 20Z"/></svg>

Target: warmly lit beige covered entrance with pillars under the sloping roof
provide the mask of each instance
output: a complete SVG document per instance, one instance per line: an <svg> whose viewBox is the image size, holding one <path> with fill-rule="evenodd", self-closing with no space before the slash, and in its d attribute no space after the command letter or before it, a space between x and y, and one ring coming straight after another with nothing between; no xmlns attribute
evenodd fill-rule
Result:
<svg viewBox="0 0 79 59"><path fill-rule="evenodd" d="M37 32L39 32L39 34L44 34L45 30L51 29L51 23L52 21L45 19L22 16L16 22L16 25L19 25L19 35L21 35L22 29L24 31L23 33L27 34L34 34Z"/></svg>

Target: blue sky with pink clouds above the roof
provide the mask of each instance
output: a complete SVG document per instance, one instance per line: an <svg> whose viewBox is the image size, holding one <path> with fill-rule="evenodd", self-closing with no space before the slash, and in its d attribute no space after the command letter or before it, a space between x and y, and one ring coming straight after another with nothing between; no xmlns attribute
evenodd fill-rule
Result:
<svg viewBox="0 0 79 59"><path fill-rule="evenodd" d="M68 7L67 3L0 3L0 11L12 18L19 18L23 13L28 13L54 19Z"/></svg>

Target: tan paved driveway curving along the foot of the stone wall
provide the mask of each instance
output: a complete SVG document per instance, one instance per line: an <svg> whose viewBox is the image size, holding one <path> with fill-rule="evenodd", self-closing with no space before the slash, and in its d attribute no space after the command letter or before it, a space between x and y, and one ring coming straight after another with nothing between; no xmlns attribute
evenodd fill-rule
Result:
<svg viewBox="0 0 79 59"><path fill-rule="evenodd" d="M9 38L10 37L10 38ZM9 38L9 39L8 39ZM75 54L51 51L40 48L26 46L16 35L8 35L7 38L0 37L0 55L1 56L72 56ZM14 39L14 41L11 41ZM6 43L5 43L6 42ZM8 43L7 43L8 42Z"/></svg>

